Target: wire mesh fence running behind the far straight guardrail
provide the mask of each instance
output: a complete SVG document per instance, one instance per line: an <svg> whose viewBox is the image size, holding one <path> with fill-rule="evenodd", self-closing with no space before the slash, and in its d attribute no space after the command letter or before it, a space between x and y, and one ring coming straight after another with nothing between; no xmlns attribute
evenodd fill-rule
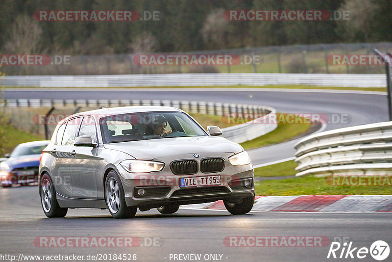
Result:
<svg viewBox="0 0 392 262"><path fill-rule="evenodd" d="M320 74L381 74L382 66L334 65L331 54L372 54L374 49L391 52L392 43L315 44L273 46L197 52L159 54L213 55L240 57L240 62L221 65L139 65L137 54L51 55L48 65L5 65L7 76L19 75L123 75L173 73L320 73ZM59 58L59 59L57 59Z"/></svg>

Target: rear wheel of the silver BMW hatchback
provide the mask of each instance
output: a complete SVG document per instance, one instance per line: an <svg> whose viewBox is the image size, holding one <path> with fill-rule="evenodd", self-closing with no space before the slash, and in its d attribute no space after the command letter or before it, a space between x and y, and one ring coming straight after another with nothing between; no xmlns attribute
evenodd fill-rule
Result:
<svg viewBox="0 0 392 262"><path fill-rule="evenodd" d="M41 205L47 217L64 217L67 214L67 208L60 208L56 199L56 190L54 189L51 178L44 174L40 183Z"/></svg>

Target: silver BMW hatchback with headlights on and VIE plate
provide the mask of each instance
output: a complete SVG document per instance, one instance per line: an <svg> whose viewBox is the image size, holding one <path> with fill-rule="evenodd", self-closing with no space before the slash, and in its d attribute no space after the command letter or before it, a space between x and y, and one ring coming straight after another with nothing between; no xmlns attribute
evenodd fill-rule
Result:
<svg viewBox="0 0 392 262"><path fill-rule="evenodd" d="M60 121L41 155L39 193L48 217L68 208L174 213L223 200L232 214L254 203L254 172L239 144L164 106L102 108Z"/></svg>

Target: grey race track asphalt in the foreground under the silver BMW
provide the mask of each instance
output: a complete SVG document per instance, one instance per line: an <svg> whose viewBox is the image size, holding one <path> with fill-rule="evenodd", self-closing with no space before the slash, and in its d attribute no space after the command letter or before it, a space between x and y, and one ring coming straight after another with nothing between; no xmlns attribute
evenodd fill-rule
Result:
<svg viewBox="0 0 392 262"><path fill-rule="evenodd" d="M352 247L370 248L376 240L392 244L391 213L250 212L230 215L225 210L180 209L171 215L150 210L138 211L132 219L113 219L107 210L79 209L69 210L65 218L47 218L40 206L37 186L1 188L0 199L0 254L17 258L20 254L136 254L137 261L168 262L174 261L169 259L170 254L201 254L202 257L221 254L221 261L225 262L374 261L369 254L362 260L327 259L327 255L331 242L340 239L352 241ZM56 244L50 244L51 247L41 247L45 246L44 242L40 244L42 239L48 240L47 243L50 239L59 239L51 236L134 237L140 239L143 246L95 247L93 244L92 247L74 247L73 241L71 247L56 247L64 242L55 240ZM230 236L238 237L231 246L224 241ZM249 243L245 242L245 245L250 246L244 247L240 236L248 237ZM285 239L307 236L310 239L322 237L325 241L321 241L321 246L303 246L297 241L292 242L297 246L287 246L279 240L277 245L265 247L253 246L255 242L249 236L285 236ZM151 246L151 239L155 239L155 246ZM234 246L236 243L242 243L242 246ZM341 251L342 248L336 255ZM390 260L391 255L385 261ZM85 257L83 261L88 260Z"/></svg>

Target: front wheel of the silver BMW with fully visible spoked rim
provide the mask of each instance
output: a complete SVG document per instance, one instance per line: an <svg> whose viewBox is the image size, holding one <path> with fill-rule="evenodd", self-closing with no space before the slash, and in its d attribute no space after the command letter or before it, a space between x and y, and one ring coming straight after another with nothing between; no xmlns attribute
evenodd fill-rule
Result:
<svg viewBox="0 0 392 262"><path fill-rule="evenodd" d="M105 201L114 218L132 218L138 210L137 207L126 206L124 195L119 176L115 171L110 171L105 182Z"/></svg>

